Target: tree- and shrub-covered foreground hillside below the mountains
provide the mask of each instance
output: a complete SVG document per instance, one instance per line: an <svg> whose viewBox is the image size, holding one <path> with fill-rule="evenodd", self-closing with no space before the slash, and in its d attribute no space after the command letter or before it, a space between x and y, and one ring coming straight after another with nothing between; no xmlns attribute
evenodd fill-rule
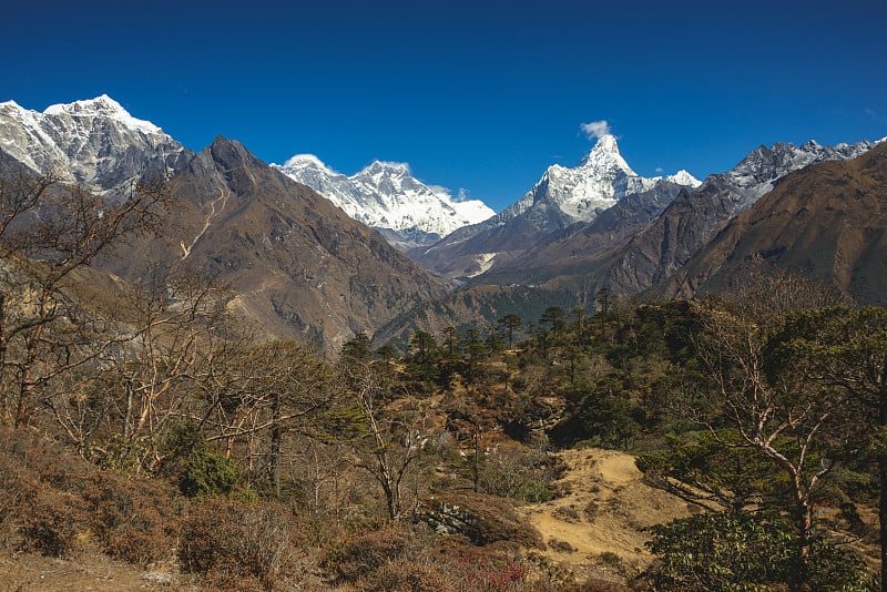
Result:
<svg viewBox="0 0 887 592"><path fill-rule="evenodd" d="M19 182L0 225L18 588L53 589L41 557L110 558L109 590L878 586L883 308L777 274L699 302L601 290L594 315L503 313L406 350L358 334L329 359L257 340L200 274L90 268L157 231L162 186ZM615 531L636 544L600 550Z"/></svg>

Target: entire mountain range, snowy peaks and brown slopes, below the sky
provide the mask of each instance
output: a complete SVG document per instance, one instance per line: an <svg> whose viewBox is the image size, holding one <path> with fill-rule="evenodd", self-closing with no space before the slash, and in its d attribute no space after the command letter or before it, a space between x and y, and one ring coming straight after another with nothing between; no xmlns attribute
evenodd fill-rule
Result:
<svg viewBox="0 0 887 592"><path fill-rule="evenodd" d="M603 135L579 166L550 166L492 214L404 164L351 176L309 155L267 165L223 137L194 153L106 95L42 113L0 103L0 157L23 170L96 192L169 180L180 203L167 235L96 265L123 279L149 261L200 269L232 286L259 335L330 353L359 331L404 343L416 328L593 309L604 287L693 296L771 267L887 304L886 146L762 145L700 183L642 177Z"/></svg>

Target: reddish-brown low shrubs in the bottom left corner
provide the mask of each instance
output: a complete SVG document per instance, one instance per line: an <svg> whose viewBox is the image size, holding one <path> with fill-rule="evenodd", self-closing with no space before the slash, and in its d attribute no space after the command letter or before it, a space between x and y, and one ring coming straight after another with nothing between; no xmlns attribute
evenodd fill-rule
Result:
<svg viewBox="0 0 887 592"><path fill-rule="evenodd" d="M59 557L86 542L147 564L175 547L177 506L163 483L102 471L33 432L0 430L0 533Z"/></svg>

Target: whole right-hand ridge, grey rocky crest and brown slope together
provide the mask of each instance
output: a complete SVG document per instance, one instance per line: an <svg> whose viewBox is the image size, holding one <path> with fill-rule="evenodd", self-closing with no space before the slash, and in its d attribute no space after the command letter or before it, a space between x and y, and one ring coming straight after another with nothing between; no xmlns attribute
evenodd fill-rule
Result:
<svg viewBox="0 0 887 592"><path fill-rule="evenodd" d="M693 297L774 268L887 305L884 140L761 146L662 207L656 213L643 194L626 196L498 272L396 317L376 339L404 343L419 328L439 333L506 314L537 320L546 306L594 310L601 288L616 298Z"/></svg>

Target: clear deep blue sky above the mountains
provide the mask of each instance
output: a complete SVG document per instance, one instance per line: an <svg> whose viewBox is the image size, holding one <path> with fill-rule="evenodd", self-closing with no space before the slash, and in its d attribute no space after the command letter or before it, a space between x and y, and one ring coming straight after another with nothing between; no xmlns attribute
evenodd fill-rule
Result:
<svg viewBox="0 0 887 592"><path fill-rule="evenodd" d="M9 4L0 101L106 93L193 150L408 162L497 211L579 164L594 121L648 176L887 135L883 1Z"/></svg>

